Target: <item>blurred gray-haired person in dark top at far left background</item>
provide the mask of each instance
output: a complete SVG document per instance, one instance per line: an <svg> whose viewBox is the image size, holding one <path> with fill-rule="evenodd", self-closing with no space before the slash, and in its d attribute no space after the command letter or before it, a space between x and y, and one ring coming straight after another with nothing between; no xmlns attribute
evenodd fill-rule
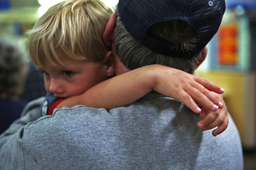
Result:
<svg viewBox="0 0 256 170"><path fill-rule="evenodd" d="M26 105L19 99L25 75L26 65L20 50L0 37L0 133L20 117Z"/></svg>

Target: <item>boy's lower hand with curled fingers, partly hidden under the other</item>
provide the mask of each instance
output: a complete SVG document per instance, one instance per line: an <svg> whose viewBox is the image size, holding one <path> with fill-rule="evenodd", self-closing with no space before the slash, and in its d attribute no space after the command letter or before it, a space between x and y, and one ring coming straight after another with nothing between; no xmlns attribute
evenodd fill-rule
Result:
<svg viewBox="0 0 256 170"><path fill-rule="evenodd" d="M202 116L203 118L197 123L197 126L201 128L203 131L209 130L218 126L218 128L212 131L213 136L219 135L228 127L227 107L221 95L218 95L218 98L221 100L222 103L224 103L223 107L221 109L218 109L215 112L210 111L205 107L203 107L202 112L200 113L200 116Z"/></svg>

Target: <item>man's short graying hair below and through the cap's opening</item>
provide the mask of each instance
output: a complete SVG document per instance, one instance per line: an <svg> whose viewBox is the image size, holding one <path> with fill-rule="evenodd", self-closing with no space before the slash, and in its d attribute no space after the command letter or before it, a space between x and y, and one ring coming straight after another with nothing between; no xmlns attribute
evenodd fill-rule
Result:
<svg viewBox="0 0 256 170"><path fill-rule="evenodd" d="M161 64L193 74L198 61L201 59L201 52L192 59L165 56L144 47L135 40L125 29L117 13L115 50L121 62L128 69L137 69L145 65ZM189 50L198 41L197 34L187 23L174 20L160 22L153 25L150 31L163 39L177 44L179 50Z"/></svg>

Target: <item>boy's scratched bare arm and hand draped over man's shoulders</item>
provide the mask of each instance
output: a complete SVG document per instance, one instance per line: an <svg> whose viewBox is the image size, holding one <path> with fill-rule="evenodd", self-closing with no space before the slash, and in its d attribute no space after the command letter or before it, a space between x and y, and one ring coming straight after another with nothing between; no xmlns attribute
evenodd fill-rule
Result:
<svg viewBox="0 0 256 170"><path fill-rule="evenodd" d="M90 88L82 95L65 99L57 108L86 105L110 110L115 107L129 105L151 90L182 101L196 113L200 113L201 109L195 101L213 111L209 113L209 115L212 115L211 119L203 118L201 120L207 129L208 127L219 126L222 123L215 121L211 126L207 126L213 122L214 118L218 118L214 112L222 107L222 104L219 103L220 99L213 93L221 94L224 92L219 86L201 77L162 65L145 66L115 76ZM222 116L222 118L225 120L225 116ZM212 121L209 122L210 120Z"/></svg>

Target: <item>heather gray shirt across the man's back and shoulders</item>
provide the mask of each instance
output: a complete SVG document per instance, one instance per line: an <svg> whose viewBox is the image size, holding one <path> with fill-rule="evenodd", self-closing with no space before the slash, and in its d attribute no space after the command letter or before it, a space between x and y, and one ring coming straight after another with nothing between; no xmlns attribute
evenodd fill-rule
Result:
<svg viewBox="0 0 256 170"><path fill-rule="evenodd" d="M0 169L243 169L230 116L213 137L197 128L198 114L155 92L109 112L56 110L0 136Z"/></svg>

